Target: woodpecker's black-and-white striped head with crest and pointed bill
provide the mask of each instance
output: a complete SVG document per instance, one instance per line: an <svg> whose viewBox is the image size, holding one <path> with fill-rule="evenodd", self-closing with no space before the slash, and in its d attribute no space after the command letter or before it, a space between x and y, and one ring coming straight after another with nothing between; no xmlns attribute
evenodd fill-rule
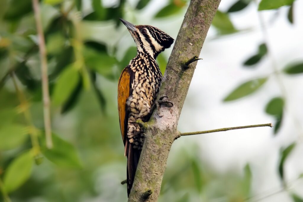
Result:
<svg viewBox="0 0 303 202"><path fill-rule="evenodd" d="M160 52L171 46L174 39L160 29L149 25L133 25L120 18L131 33L139 52L145 52L156 58Z"/></svg>

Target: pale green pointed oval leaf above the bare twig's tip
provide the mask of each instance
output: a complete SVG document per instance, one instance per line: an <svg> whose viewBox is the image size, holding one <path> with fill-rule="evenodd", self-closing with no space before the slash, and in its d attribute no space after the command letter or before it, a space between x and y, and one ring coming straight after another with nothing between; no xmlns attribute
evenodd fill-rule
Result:
<svg viewBox="0 0 303 202"><path fill-rule="evenodd" d="M228 96L225 97L224 102L248 96L258 90L266 81L267 77L264 77L242 83L240 86L234 89Z"/></svg>

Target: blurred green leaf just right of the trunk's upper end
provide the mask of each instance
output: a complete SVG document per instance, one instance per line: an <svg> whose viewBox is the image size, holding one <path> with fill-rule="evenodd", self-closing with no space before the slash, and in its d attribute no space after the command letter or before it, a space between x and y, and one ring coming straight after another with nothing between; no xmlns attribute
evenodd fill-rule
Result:
<svg viewBox="0 0 303 202"><path fill-rule="evenodd" d="M238 31L237 29L235 29L234 25L229 19L228 14L219 10L217 10L215 17L212 20L212 25L214 25L214 27L221 35L231 34Z"/></svg>

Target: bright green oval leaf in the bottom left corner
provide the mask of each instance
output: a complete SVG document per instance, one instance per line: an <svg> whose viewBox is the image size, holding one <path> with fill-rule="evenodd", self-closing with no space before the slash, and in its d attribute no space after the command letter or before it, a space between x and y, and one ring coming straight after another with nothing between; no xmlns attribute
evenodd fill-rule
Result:
<svg viewBox="0 0 303 202"><path fill-rule="evenodd" d="M33 166L33 155L31 151L23 153L9 164L3 179L7 192L12 192L20 187L31 175Z"/></svg>

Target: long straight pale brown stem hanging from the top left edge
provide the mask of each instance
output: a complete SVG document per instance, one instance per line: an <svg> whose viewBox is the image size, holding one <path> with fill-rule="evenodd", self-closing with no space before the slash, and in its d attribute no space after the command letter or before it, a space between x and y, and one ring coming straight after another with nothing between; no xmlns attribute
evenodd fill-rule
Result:
<svg viewBox="0 0 303 202"><path fill-rule="evenodd" d="M47 59L46 59L46 48L45 40L43 35L40 8L38 0L32 0L36 27L39 39L39 52L41 59L41 79L42 79L42 93L43 93L43 115L44 115L44 128L45 128L45 139L46 146L48 149L52 148L52 127L51 127L51 112L50 112L50 99L48 91L48 74L47 74Z"/></svg>

